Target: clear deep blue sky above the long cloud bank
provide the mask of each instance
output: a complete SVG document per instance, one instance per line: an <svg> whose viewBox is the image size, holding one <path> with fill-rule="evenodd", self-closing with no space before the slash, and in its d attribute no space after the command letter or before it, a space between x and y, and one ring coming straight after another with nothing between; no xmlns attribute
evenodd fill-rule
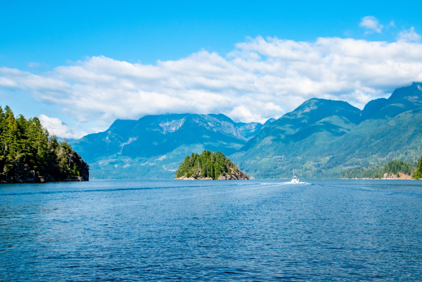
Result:
<svg viewBox="0 0 422 282"><path fill-rule="evenodd" d="M54 67L98 55L154 63L201 48L227 53L246 36L258 35L296 41L333 36L395 40L388 31L364 36L359 22L368 15L395 21L398 29L422 29L416 12L420 1L142 2L3 1L0 63Z"/></svg>

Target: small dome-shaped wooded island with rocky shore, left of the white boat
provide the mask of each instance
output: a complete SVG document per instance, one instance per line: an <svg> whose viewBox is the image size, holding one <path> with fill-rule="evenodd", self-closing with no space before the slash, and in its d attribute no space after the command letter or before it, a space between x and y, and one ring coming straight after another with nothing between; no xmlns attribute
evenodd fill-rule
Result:
<svg viewBox="0 0 422 282"><path fill-rule="evenodd" d="M180 180L240 180L249 179L236 164L222 152L213 153L205 150L200 155L192 153L186 156L176 170L176 179Z"/></svg>

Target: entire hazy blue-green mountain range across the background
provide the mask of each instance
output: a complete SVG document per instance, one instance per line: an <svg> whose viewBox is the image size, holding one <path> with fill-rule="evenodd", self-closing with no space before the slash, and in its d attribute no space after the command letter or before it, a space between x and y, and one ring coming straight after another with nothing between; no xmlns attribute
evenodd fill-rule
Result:
<svg viewBox="0 0 422 282"><path fill-rule="evenodd" d="M255 178L336 178L344 170L422 153L422 83L369 101L309 99L278 119L235 123L225 115L149 115L116 120L72 141L92 178L174 178L190 153L221 151Z"/></svg>

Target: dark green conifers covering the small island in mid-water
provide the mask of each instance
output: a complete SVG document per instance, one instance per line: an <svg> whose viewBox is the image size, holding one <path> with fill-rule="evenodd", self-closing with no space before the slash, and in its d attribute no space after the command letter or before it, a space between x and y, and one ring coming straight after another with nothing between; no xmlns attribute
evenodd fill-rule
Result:
<svg viewBox="0 0 422 282"><path fill-rule="evenodd" d="M200 155L192 153L186 156L176 170L176 178L183 175L193 178L212 178L217 179L225 172L230 173L230 168L238 170L236 164L228 159L222 152L213 153L204 150Z"/></svg>

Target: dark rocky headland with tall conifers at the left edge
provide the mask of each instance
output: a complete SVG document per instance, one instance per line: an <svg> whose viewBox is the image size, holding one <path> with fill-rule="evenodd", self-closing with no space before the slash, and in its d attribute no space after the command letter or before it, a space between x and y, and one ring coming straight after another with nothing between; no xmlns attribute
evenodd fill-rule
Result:
<svg viewBox="0 0 422 282"><path fill-rule="evenodd" d="M0 107L0 182L88 181L89 166L38 118Z"/></svg>

